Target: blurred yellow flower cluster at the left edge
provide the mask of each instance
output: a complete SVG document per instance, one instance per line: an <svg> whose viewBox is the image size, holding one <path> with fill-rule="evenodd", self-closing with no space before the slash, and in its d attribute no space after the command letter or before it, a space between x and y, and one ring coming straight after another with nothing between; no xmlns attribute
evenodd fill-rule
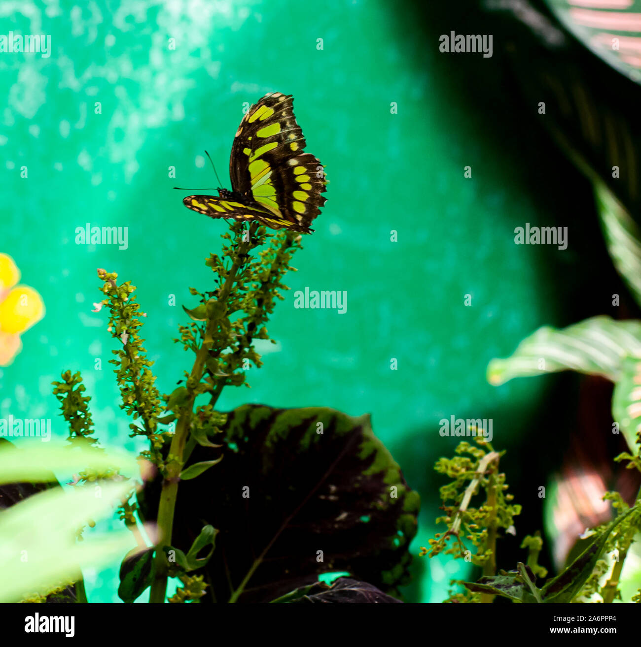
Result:
<svg viewBox="0 0 641 647"><path fill-rule="evenodd" d="M14 259L0 254L0 366L12 362L22 349L20 335L45 315L40 294L28 285L16 285L19 279Z"/></svg>

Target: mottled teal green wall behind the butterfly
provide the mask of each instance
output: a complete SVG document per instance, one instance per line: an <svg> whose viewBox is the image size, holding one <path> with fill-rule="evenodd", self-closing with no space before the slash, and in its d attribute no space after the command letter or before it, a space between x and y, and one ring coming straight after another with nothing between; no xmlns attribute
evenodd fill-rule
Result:
<svg viewBox="0 0 641 647"><path fill-rule="evenodd" d="M533 187L531 174L542 170L524 168L518 147L506 153L411 14L396 16L395 3L382 0L321 5L98 0L45 10L25 0L22 14L3 18L5 30L51 34L52 56L0 55L8 91L0 252L16 259L47 307L21 355L0 371L0 415L56 416L50 382L80 370L100 438L134 448L106 363L114 347L106 317L91 313L96 269L137 285L158 386L171 391L192 362L171 341L185 322L180 305L194 303L189 286L211 289L204 259L226 229L185 210L187 192L172 186L216 186L211 168L195 164L204 149L227 184L243 103L269 91L294 94L307 150L327 166L328 202L269 325L279 344L251 372L251 390L227 389L220 404L371 412L375 432L421 490L417 553L438 514L430 470L453 447L439 437L439 419L494 417L501 444L521 424L506 421L537 406L542 382L496 389L485 367L538 325L555 323L563 295L549 272L561 252L513 243L515 226L548 224L554 205ZM486 67L496 82L496 67ZM535 148L536 136L525 137L523 146ZM76 245L75 228L87 221L127 226L128 250ZM347 313L294 309L293 291L305 286L347 291ZM66 434L62 419L53 426ZM412 599L443 598L451 567L432 567ZM87 573L89 595L110 599L103 587L115 573L117 565Z"/></svg>

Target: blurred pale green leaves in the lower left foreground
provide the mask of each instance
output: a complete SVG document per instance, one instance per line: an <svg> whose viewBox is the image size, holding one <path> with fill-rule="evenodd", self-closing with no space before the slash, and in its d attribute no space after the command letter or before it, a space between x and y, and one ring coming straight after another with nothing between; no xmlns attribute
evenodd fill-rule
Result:
<svg viewBox="0 0 641 647"><path fill-rule="evenodd" d="M0 448L0 602L43 601L56 597L80 576L80 565L106 564L128 549L126 531L76 542L87 520L112 513L132 482L123 477L95 490L65 492L50 470L69 472L87 466L93 473L136 468L132 457L90 448L41 446L23 450L4 441ZM44 468L46 465L47 468ZM38 483L30 485L25 481ZM8 501L8 502L7 502Z"/></svg>

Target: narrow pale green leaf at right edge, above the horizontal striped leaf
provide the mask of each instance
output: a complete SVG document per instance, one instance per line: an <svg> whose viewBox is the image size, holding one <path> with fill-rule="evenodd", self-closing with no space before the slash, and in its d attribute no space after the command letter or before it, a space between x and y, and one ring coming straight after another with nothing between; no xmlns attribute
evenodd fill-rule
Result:
<svg viewBox="0 0 641 647"><path fill-rule="evenodd" d="M614 267L624 278L636 303L641 305L641 231L603 182L596 182L594 193Z"/></svg>

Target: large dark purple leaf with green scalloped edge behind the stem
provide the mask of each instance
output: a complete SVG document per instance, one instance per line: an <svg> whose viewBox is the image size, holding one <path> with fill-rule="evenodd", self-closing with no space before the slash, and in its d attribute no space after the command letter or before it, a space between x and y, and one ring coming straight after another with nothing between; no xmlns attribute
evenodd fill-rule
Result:
<svg viewBox="0 0 641 647"><path fill-rule="evenodd" d="M222 432L225 460L180 485L173 536L189 545L202 519L221 529L206 567L218 602L254 566L242 602L268 602L327 571L358 573L398 594L409 579L419 496L368 415L247 405L227 414ZM192 459L219 455L196 446ZM157 501L143 505L152 518Z"/></svg>

